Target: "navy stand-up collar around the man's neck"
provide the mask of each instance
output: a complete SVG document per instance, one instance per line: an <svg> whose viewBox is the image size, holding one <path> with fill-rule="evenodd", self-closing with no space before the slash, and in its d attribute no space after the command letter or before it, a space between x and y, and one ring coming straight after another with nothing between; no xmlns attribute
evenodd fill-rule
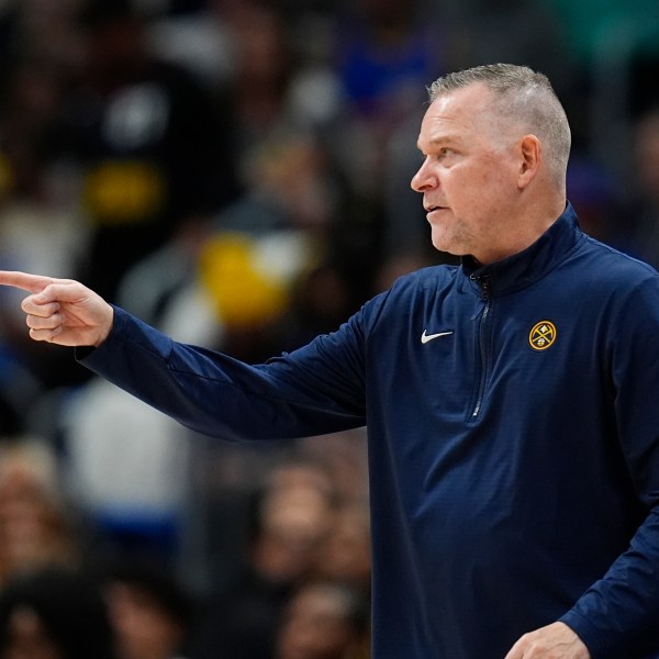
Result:
<svg viewBox="0 0 659 659"><path fill-rule="evenodd" d="M465 256L462 272L479 291L478 282L487 280L492 294L512 293L552 270L582 239L585 235L568 202L560 217L533 245L488 266L481 266L472 256Z"/></svg>

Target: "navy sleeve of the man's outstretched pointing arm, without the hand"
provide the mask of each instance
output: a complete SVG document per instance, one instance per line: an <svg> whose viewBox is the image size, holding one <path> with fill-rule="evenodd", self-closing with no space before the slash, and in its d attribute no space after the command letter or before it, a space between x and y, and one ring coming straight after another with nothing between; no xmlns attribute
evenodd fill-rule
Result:
<svg viewBox="0 0 659 659"><path fill-rule="evenodd" d="M78 350L97 375L199 433L283 439L366 423L361 313L332 334L250 366L172 340L115 308L110 336Z"/></svg>

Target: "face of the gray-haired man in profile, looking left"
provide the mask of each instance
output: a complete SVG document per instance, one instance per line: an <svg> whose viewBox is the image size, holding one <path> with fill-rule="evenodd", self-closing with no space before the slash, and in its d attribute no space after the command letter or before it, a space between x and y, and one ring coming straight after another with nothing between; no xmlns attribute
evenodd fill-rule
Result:
<svg viewBox="0 0 659 659"><path fill-rule="evenodd" d="M509 256L520 194L518 143L492 110L493 92L472 85L440 96L423 119L424 160L412 179L423 193L433 245L488 264Z"/></svg>

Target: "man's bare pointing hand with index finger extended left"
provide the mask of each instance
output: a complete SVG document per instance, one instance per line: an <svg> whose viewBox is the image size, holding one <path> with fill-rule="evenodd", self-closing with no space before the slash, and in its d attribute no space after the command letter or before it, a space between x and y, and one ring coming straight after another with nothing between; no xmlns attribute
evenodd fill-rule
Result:
<svg viewBox="0 0 659 659"><path fill-rule="evenodd" d="M0 286L31 293L21 308L34 340L98 347L112 328L112 306L78 281L0 270Z"/></svg>

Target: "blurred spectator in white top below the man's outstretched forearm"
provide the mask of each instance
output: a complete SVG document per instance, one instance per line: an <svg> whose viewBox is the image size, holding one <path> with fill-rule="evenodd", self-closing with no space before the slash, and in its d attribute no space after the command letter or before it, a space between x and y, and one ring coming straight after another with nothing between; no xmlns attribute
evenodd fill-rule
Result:
<svg viewBox="0 0 659 659"><path fill-rule="evenodd" d="M98 378L69 392L62 416L63 467L97 554L174 565L188 488L186 435Z"/></svg>

